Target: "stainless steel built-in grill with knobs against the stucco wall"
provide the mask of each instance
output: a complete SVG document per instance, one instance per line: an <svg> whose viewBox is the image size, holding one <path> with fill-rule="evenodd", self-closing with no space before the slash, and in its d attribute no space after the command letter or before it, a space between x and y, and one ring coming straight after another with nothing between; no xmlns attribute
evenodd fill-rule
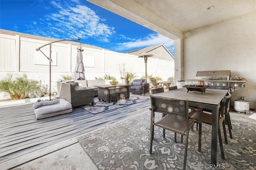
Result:
<svg viewBox="0 0 256 170"><path fill-rule="evenodd" d="M185 80L186 85L197 84L198 80L204 80L211 89L224 89L245 87L245 80L230 80L231 70L197 71L195 80Z"/></svg>

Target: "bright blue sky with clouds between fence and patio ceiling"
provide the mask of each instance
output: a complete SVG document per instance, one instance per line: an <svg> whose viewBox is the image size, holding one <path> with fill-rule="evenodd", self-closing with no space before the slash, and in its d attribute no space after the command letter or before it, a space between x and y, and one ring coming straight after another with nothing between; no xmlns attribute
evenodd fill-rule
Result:
<svg viewBox="0 0 256 170"><path fill-rule="evenodd" d="M56 39L81 39L116 52L174 41L86 0L0 0L0 28Z"/></svg>

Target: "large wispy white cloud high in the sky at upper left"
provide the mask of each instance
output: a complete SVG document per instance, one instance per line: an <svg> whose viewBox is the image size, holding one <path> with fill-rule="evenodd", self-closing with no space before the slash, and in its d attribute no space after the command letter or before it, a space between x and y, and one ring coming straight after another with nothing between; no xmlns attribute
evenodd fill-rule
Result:
<svg viewBox="0 0 256 170"><path fill-rule="evenodd" d="M56 8L54 13L40 18L40 23L34 21L34 25L28 25L30 32L59 39L91 37L101 42L109 42L111 35L116 33L114 27L103 23L103 19L78 0L50 3Z"/></svg>

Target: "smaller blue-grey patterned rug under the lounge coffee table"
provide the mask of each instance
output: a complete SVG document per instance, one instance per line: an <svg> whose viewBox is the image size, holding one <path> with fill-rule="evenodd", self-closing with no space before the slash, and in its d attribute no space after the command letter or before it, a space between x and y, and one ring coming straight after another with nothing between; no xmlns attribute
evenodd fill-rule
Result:
<svg viewBox="0 0 256 170"><path fill-rule="evenodd" d="M83 107L86 111L89 111L92 114L97 114L97 113L101 113L104 111L109 111L109 110L113 110L113 109L118 109L120 107L125 107L125 106L129 106L131 104L136 104L136 103L140 103L140 102L144 102L150 100L149 96L140 96L140 95L136 95L136 94L130 94L130 98L129 99L120 99L118 101L115 102L111 102L111 103L106 103L104 101L99 101L98 97L94 98L94 105L93 106L85 106Z"/></svg>

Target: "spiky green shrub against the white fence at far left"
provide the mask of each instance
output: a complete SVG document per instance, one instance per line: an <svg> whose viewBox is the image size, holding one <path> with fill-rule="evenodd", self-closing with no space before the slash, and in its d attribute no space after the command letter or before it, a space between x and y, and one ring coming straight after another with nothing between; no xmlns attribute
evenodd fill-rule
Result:
<svg viewBox="0 0 256 170"><path fill-rule="evenodd" d="M28 79L27 74L20 77L13 77L7 73L6 77L0 81L0 91L10 94L12 99L24 99L25 97L40 92L40 84L37 80Z"/></svg>

